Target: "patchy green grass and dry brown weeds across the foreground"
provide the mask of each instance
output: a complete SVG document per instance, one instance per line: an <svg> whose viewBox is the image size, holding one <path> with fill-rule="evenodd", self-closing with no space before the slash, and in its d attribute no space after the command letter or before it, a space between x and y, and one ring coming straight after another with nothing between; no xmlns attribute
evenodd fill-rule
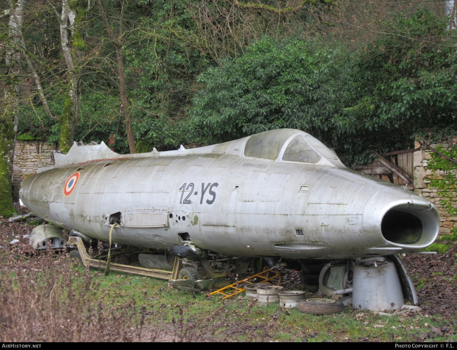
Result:
<svg viewBox="0 0 457 350"><path fill-rule="evenodd" d="M5 246L5 245L4 245ZM7 246L7 245L6 245ZM84 268L69 257L3 249L0 341L456 341L456 318L353 310L313 315L187 293L164 280Z"/></svg>

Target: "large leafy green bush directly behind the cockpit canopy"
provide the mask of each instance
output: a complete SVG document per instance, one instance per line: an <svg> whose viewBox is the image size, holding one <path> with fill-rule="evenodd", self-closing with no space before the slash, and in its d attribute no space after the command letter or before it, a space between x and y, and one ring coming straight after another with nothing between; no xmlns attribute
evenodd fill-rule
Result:
<svg viewBox="0 0 457 350"><path fill-rule="evenodd" d="M211 143L297 128L337 146L332 118L355 95L351 57L323 42L265 37L239 59L225 59L199 76L206 88L192 100L192 135Z"/></svg>

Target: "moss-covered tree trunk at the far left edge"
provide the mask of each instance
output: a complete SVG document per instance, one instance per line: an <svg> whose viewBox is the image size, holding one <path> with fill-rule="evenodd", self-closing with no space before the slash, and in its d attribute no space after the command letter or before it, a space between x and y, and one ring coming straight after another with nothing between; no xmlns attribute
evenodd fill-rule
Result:
<svg viewBox="0 0 457 350"><path fill-rule="evenodd" d="M12 169L14 146L16 143L19 102L19 77L21 71L21 51L19 35L22 26L24 5L27 0L8 1L9 33L5 54L5 67L9 79L5 80L3 105L0 115L0 215L11 217L16 214L12 198Z"/></svg>

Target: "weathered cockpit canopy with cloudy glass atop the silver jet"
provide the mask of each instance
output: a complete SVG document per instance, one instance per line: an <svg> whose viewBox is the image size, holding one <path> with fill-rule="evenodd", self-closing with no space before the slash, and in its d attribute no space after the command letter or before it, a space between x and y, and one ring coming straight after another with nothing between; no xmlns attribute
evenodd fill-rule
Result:
<svg viewBox="0 0 457 350"><path fill-rule="evenodd" d="M322 159L340 163L338 157L322 142L306 132L295 129L265 131L249 137L244 146L244 157L285 162L319 163Z"/></svg>

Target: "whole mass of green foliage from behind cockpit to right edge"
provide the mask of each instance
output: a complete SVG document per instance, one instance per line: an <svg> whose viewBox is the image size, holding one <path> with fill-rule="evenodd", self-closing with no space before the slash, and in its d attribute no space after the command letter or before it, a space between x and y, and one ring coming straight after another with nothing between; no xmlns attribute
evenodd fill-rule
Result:
<svg viewBox="0 0 457 350"><path fill-rule="evenodd" d="M456 129L454 31L419 10L385 24L359 52L326 38L263 38L202 73L191 133L203 143L277 128L307 131L348 165Z"/></svg>

